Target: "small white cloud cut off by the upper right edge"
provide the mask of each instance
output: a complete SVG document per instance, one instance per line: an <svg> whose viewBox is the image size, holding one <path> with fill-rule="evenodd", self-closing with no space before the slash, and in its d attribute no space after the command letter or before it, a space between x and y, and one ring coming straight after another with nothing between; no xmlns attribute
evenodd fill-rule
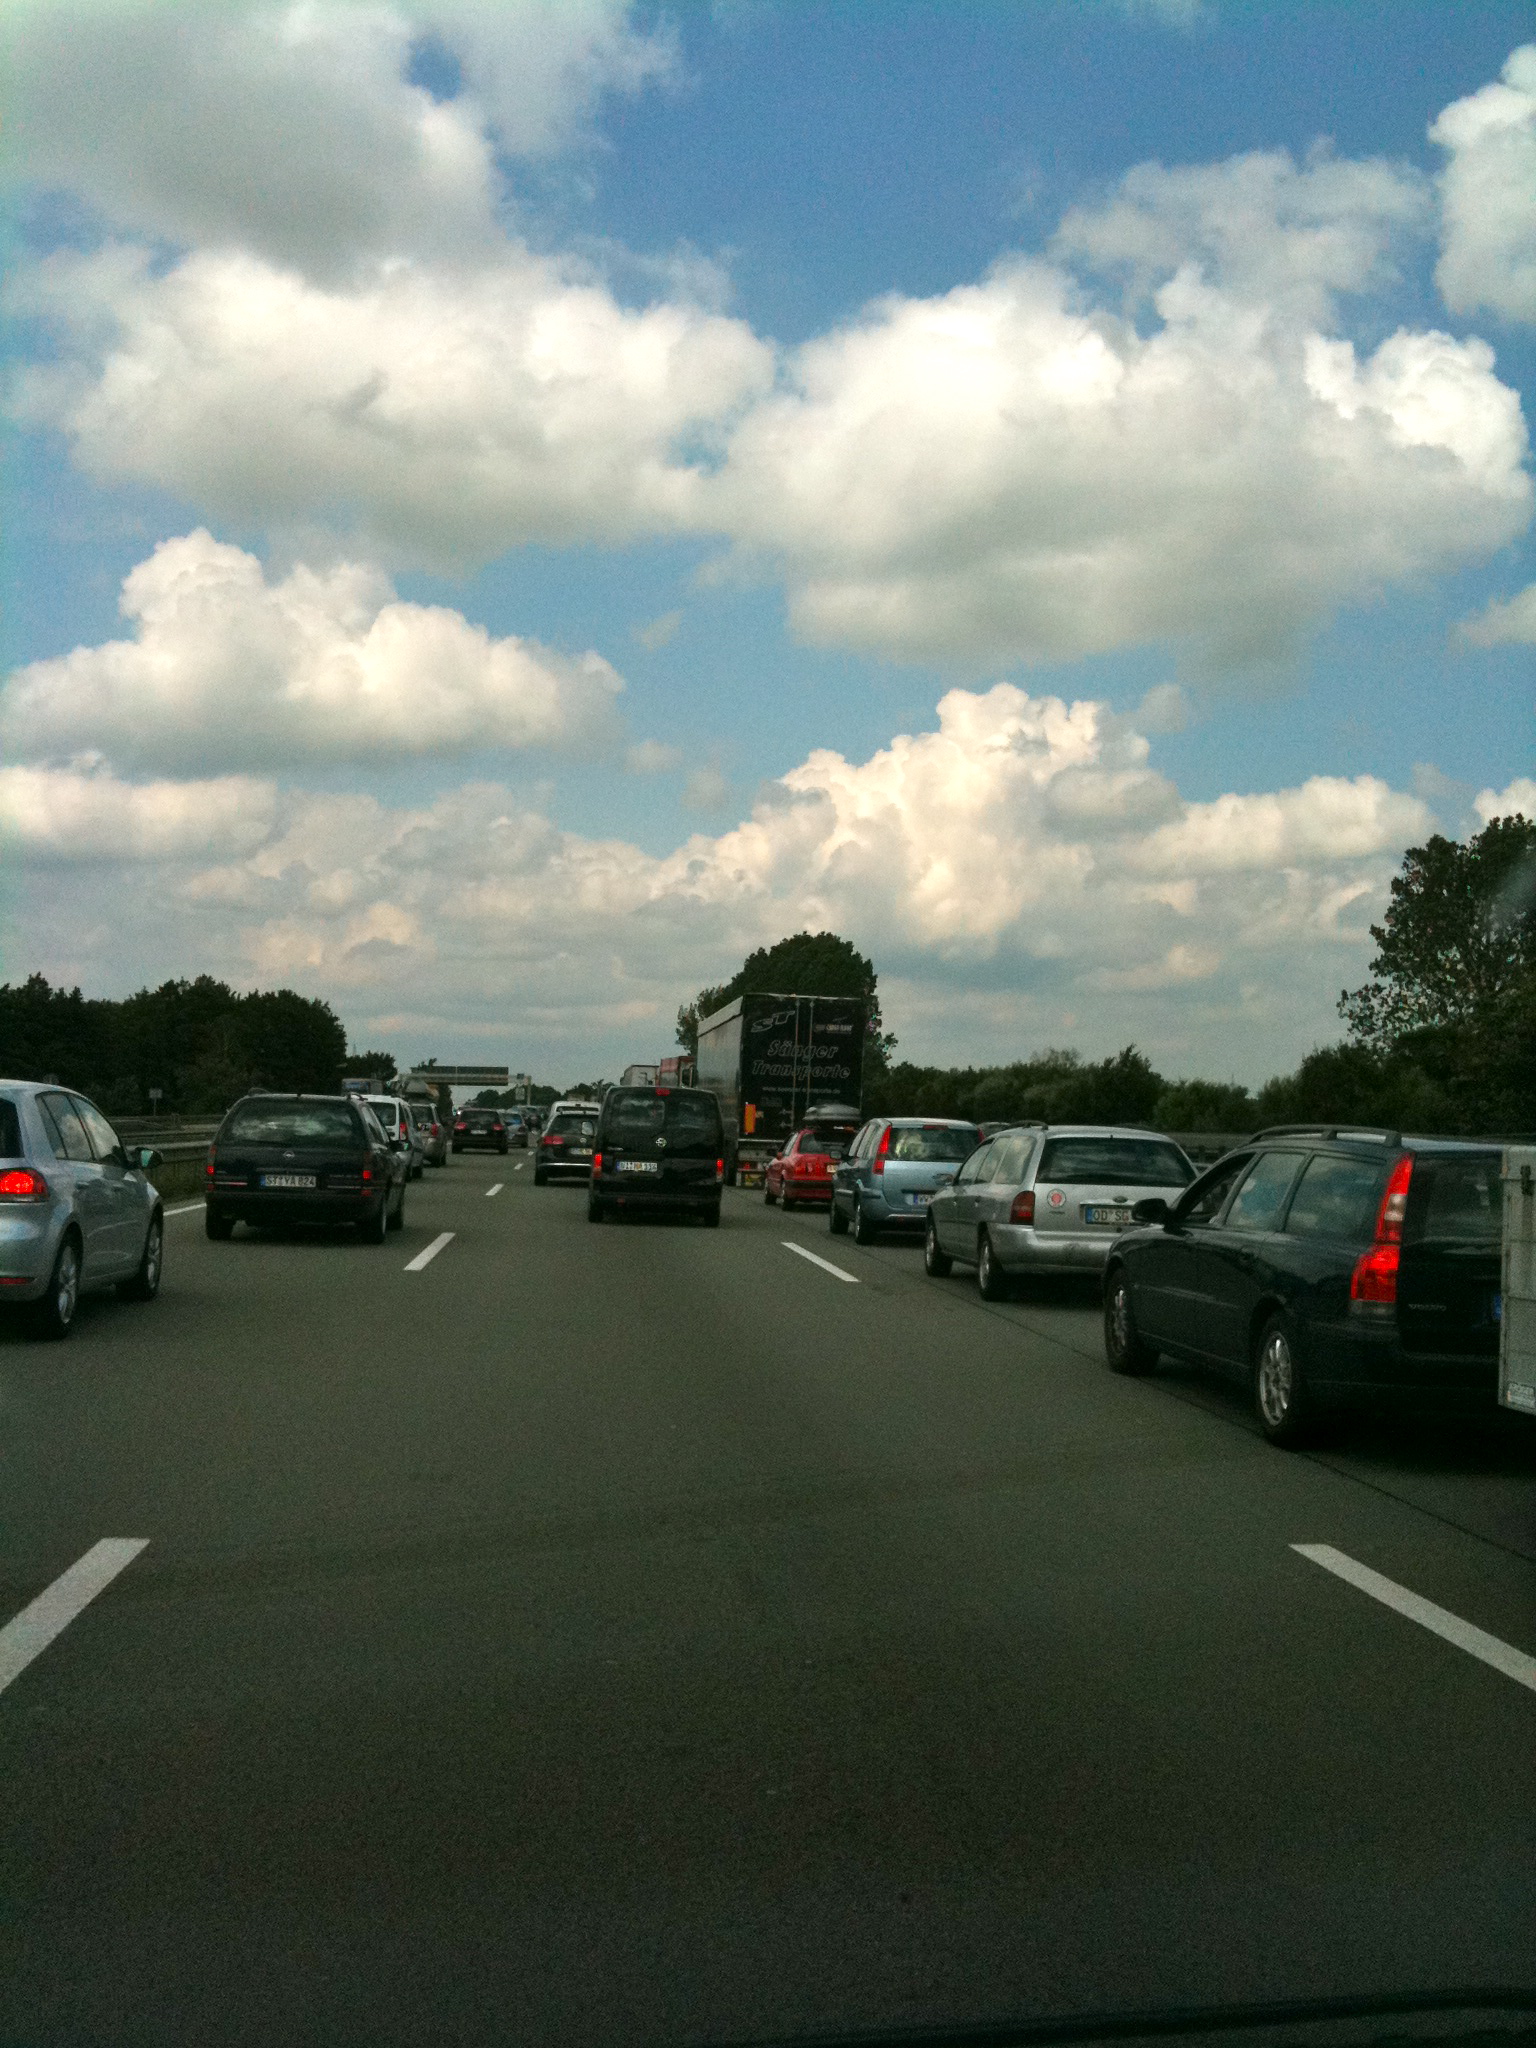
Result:
<svg viewBox="0 0 1536 2048"><path fill-rule="evenodd" d="M1497 84L1446 106L1430 137L1448 156L1436 270L1446 305L1536 319L1536 43L1511 53Z"/></svg>

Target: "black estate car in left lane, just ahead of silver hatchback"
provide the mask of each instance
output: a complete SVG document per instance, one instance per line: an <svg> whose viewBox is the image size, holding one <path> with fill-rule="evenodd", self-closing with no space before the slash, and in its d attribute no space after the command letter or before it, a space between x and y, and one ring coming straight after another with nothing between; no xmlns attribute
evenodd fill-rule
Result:
<svg viewBox="0 0 1536 2048"><path fill-rule="evenodd" d="M209 1145L209 1237L236 1223L352 1223L373 1245L406 1223L410 1141L354 1096L246 1096Z"/></svg>

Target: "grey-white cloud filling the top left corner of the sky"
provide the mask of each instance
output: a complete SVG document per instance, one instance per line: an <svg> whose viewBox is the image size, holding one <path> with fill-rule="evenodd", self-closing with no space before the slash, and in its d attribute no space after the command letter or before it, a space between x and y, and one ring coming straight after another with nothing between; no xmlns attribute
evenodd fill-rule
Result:
<svg viewBox="0 0 1536 2048"><path fill-rule="evenodd" d="M672 68L625 0L14 0L0 35L12 176L311 272L487 246L498 152ZM461 66L451 100L410 82L422 37Z"/></svg>

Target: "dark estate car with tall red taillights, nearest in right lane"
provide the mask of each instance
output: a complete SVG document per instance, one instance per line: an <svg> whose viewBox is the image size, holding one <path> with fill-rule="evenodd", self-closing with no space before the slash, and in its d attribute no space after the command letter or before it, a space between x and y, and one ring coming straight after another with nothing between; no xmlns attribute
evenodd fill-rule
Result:
<svg viewBox="0 0 1536 2048"><path fill-rule="evenodd" d="M1284 1446L1329 1407L1493 1413L1501 1174L1466 1139L1260 1130L1171 1206L1135 1204L1104 1276L1108 1362L1214 1366Z"/></svg>

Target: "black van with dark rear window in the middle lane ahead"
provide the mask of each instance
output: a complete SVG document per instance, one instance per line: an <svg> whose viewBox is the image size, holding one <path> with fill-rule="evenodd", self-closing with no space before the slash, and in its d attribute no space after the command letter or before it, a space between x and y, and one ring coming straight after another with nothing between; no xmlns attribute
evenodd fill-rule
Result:
<svg viewBox="0 0 1536 2048"><path fill-rule="evenodd" d="M637 1208L721 1221L725 1128L705 1087L610 1087L592 1141L588 1223Z"/></svg>

